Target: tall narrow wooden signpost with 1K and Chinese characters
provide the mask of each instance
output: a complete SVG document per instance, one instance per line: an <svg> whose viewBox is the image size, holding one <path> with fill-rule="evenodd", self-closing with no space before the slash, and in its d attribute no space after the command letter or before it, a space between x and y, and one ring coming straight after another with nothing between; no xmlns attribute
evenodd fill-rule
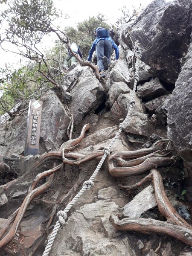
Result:
<svg viewBox="0 0 192 256"><path fill-rule="evenodd" d="M31 99L29 102L24 156L38 154L42 105L41 100Z"/></svg>

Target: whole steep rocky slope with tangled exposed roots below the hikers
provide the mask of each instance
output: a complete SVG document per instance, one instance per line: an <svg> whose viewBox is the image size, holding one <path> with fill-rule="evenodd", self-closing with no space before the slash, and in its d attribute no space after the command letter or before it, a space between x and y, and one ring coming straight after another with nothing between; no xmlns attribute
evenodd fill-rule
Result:
<svg viewBox="0 0 192 256"><path fill-rule="evenodd" d="M105 79L76 64L64 101L41 97L38 155L23 156L27 111L1 116L0 255L192 255L191 31L191 0L122 25Z"/></svg>

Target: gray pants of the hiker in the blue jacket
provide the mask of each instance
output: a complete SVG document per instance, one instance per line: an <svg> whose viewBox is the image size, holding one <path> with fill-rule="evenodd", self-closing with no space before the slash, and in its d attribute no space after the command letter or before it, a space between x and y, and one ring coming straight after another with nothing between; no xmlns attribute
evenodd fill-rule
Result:
<svg viewBox="0 0 192 256"><path fill-rule="evenodd" d="M111 58L112 43L110 40L100 39L96 45L97 65L99 71L104 70L103 57L107 57L108 64Z"/></svg>

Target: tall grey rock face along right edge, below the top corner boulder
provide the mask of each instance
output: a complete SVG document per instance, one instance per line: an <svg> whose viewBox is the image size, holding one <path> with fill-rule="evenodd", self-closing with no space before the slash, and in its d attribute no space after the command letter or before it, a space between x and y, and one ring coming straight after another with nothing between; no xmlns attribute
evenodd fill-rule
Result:
<svg viewBox="0 0 192 256"><path fill-rule="evenodd" d="M177 152L192 166L192 44L173 90L168 110L168 137ZM191 169L191 167L190 167ZM192 177L192 172L190 173Z"/></svg>

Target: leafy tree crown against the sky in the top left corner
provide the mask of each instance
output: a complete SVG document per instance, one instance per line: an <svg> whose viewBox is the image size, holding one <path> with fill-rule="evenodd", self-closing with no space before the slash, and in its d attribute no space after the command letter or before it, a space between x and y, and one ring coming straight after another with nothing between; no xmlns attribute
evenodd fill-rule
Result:
<svg viewBox="0 0 192 256"><path fill-rule="evenodd" d="M19 43L19 39L22 39L24 42L37 43L49 32L57 12L52 0L11 0L9 8L1 16L8 23L6 35L10 41Z"/></svg>

